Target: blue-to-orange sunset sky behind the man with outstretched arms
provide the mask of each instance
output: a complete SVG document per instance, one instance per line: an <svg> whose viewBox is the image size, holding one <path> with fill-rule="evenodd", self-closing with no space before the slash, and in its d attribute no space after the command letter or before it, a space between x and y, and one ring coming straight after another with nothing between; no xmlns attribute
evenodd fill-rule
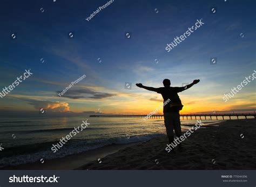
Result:
<svg viewBox="0 0 256 187"><path fill-rule="evenodd" d="M256 70L255 1L115 0L86 20L106 2L1 1L0 91L33 74L0 98L0 113L147 114L163 99L135 84L162 87L163 79L177 87L200 79L179 93L181 113L256 108L255 81L223 100ZM167 52L198 19L204 25Z"/></svg>

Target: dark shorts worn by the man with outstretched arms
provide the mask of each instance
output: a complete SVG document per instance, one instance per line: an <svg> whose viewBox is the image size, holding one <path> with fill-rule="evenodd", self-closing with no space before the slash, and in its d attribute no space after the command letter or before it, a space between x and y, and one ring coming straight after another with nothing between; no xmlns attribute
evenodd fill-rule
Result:
<svg viewBox="0 0 256 187"><path fill-rule="evenodd" d="M164 113L164 124L167 136L173 136L173 128L176 136L181 136L181 127L179 112L166 112Z"/></svg>

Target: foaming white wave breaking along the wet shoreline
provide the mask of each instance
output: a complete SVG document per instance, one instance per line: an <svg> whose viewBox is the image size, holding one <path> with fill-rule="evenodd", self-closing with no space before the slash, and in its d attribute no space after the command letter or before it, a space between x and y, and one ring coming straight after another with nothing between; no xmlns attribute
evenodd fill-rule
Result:
<svg viewBox="0 0 256 187"><path fill-rule="evenodd" d="M164 136L164 134L147 134L138 136L121 136L112 138L94 138L84 140L70 140L64 144L56 153L51 150L52 144L59 142L45 142L39 144L29 144L5 149L5 156L0 158L0 168L14 166L25 163L39 162L41 158L50 160L64 156L82 153L87 150L97 149L111 144L127 144L147 141L154 137Z"/></svg>

